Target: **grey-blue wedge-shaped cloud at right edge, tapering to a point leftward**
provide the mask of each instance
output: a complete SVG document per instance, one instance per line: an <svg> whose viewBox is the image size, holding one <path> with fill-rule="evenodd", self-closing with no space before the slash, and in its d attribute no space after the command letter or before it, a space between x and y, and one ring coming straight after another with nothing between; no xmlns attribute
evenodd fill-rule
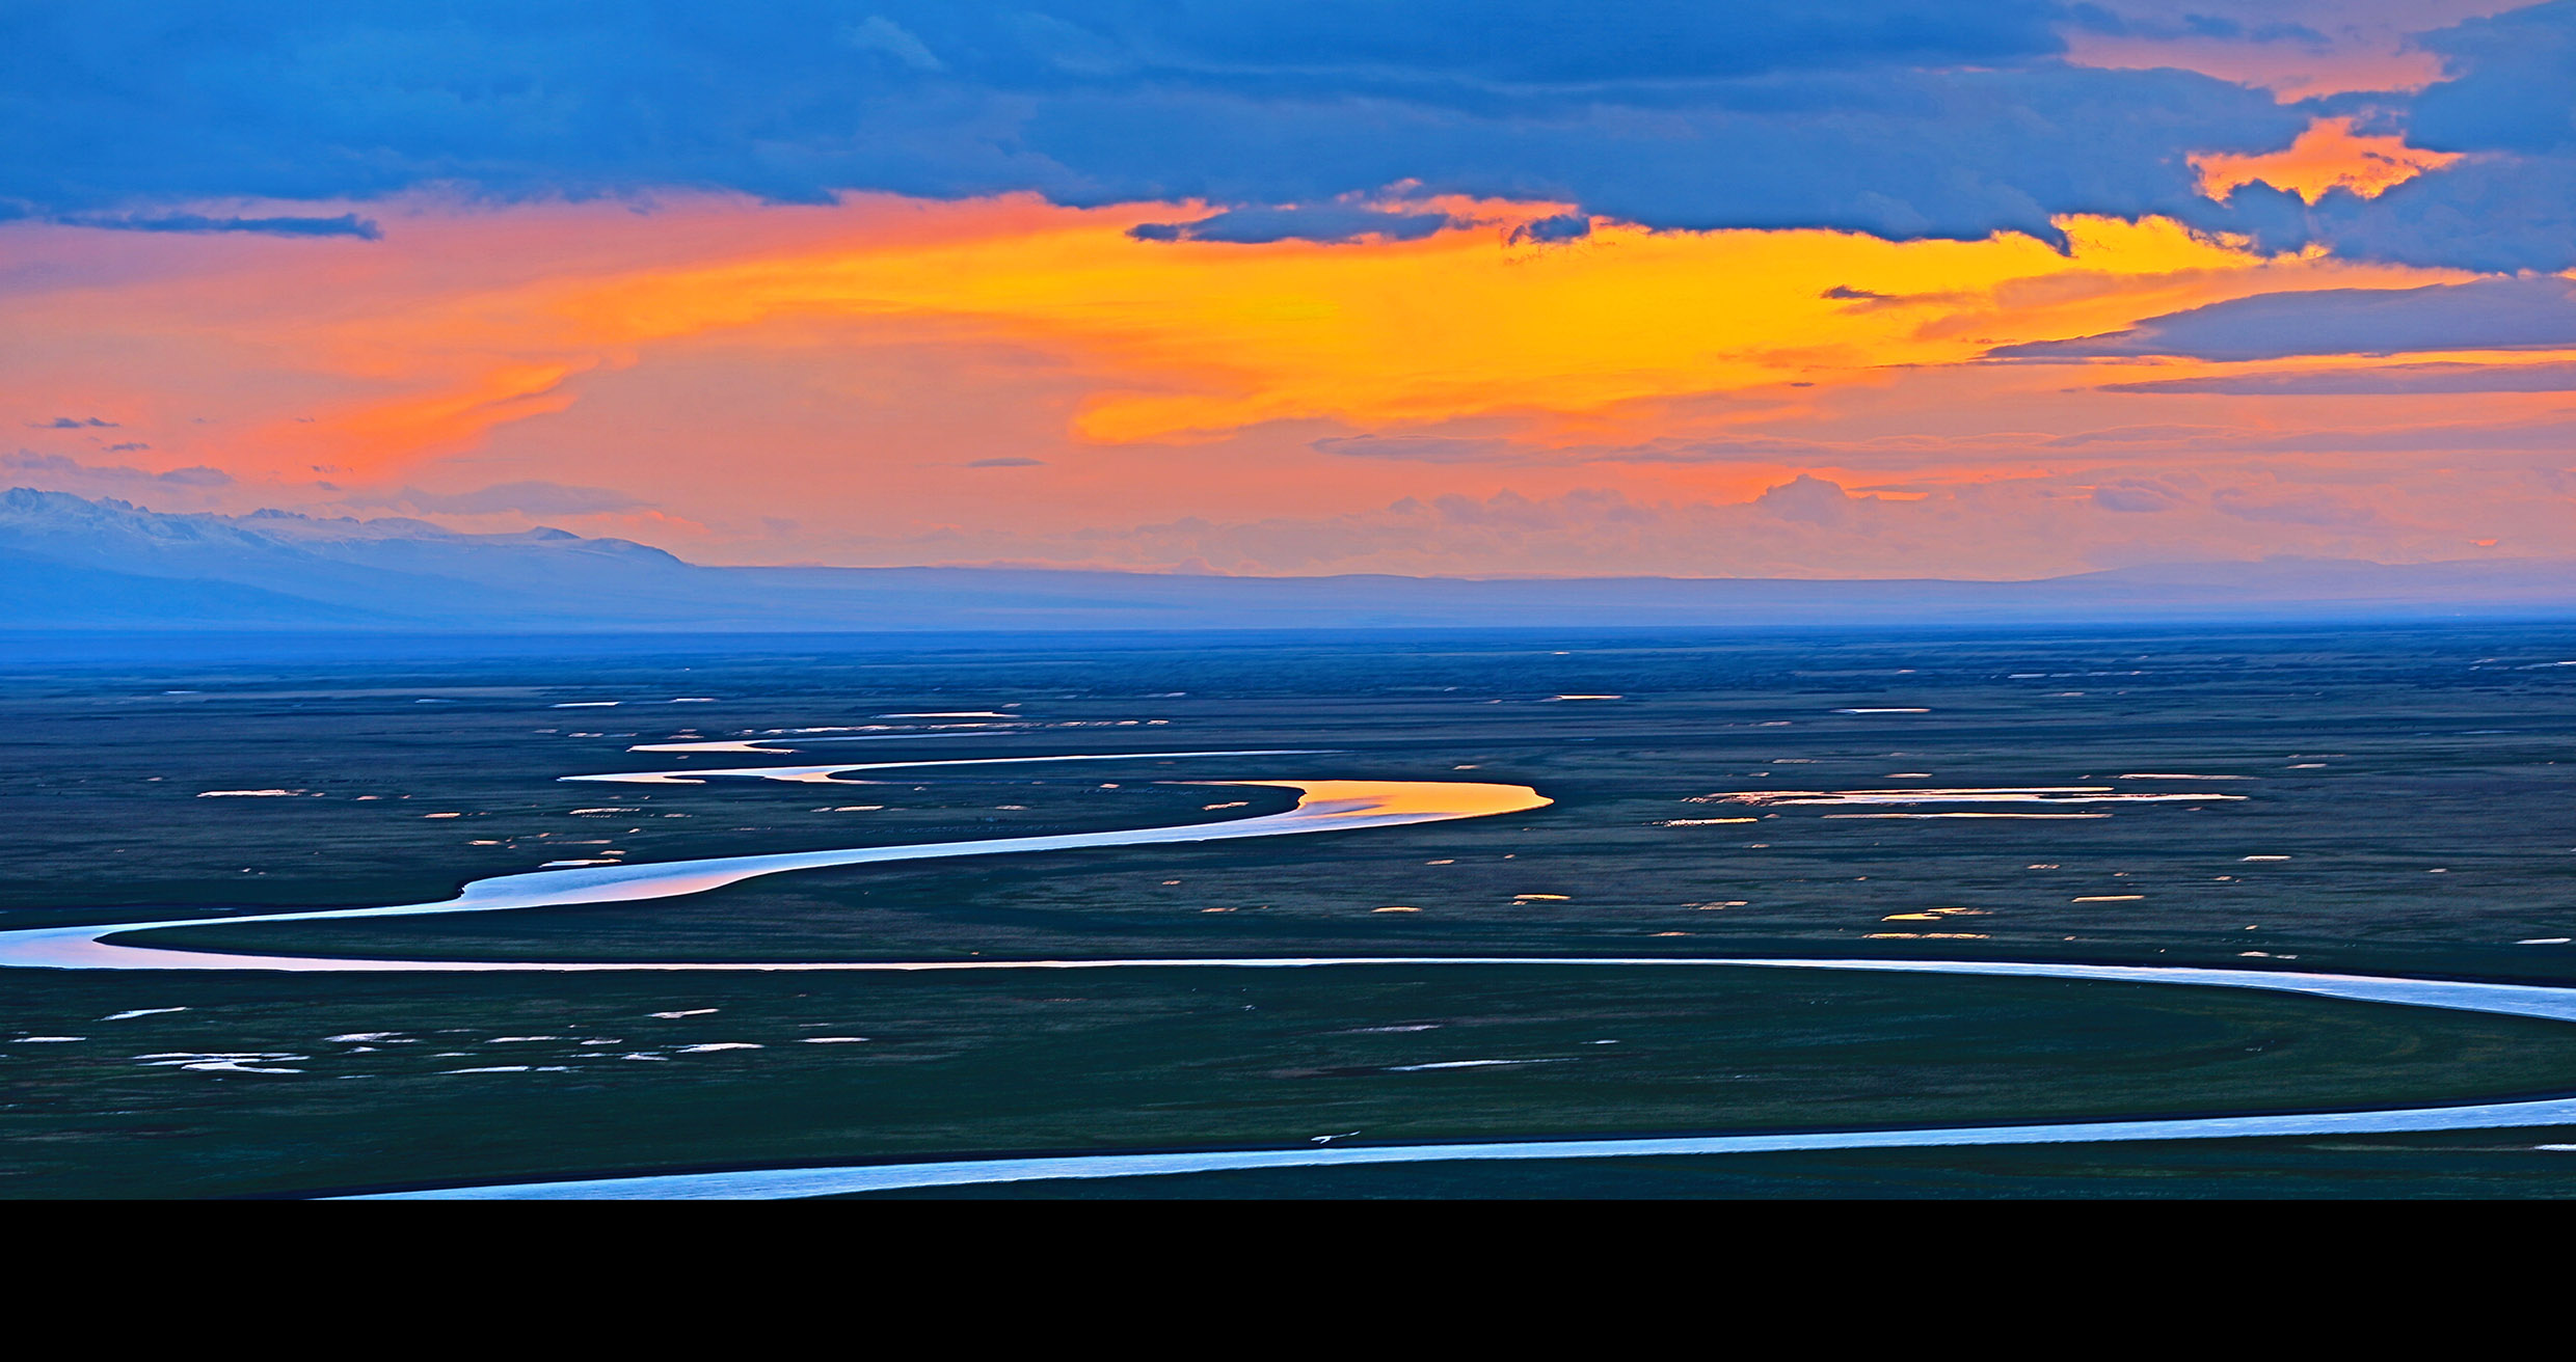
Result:
<svg viewBox="0 0 2576 1362"><path fill-rule="evenodd" d="M2187 355L2275 360L2290 355L2398 355L2411 350L2522 350L2576 345L2576 283L2483 278L2427 288L2318 288L2259 294L2148 317L2125 332L2004 345L2002 360Z"/></svg>

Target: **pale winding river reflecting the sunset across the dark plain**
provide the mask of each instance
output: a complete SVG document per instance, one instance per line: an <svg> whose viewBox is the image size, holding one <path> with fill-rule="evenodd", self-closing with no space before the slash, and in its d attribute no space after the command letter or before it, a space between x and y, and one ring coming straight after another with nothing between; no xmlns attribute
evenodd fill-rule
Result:
<svg viewBox="0 0 2576 1362"><path fill-rule="evenodd" d="M868 762L817 767L737 767L585 775L572 780L616 783L703 783L711 775L827 783L850 770L917 770L1005 762L1090 762L1149 757L1278 757L1291 752L1136 752L1115 757L1002 757L987 762ZM1303 754L1303 752L1298 752ZM549 960L343 960L314 955L250 955L219 950L170 950L111 942L106 937L162 927L214 927L242 922L319 922L358 917L420 917L451 911L544 909L574 904L623 904L703 893L786 870L829 865L871 865L891 860L933 860L963 855L1054 852L1082 847L1141 847L1177 842L1218 842L1231 837L1285 837L1301 832L1347 832L1365 826L1404 826L1450 819L1481 819L1543 808L1551 801L1528 785L1486 785L1461 780L1200 780L1203 785L1270 785L1298 790L1296 808L1216 824L1182 824L1123 832L1077 832L1056 837L994 837L976 842L922 842L902 847L850 847L827 852L783 852L703 857L647 865L598 865L533 870L466 883L456 899L433 904L392 904L376 909L319 909L260 917L196 917L162 922L116 922L90 927L33 927L0 932L0 968L108 968L108 971L415 971L415 973L572 973L572 971L1136 971L1136 968L1358 968L1358 966L1528 966L1528 968L1808 968L1883 973L1971 973L2025 978L2094 978L2123 984L2179 984L2210 989L2257 989L2311 994L2447 1012L2496 1012L2576 1022L2576 989L2532 984L2473 984L2442 978L2385 978L2290 971L2223 971L2161 966L2058 966L2025 960L1783 960L1783 958L1698 958L1698 955L1303 955L1303 958L1131 958L1131 960L791 960L791 963L549 963ZM2027 1146L2027 1143L2115 1143L2115 1141L2192 1141L2246 1135L2354 1135L2406 1130L2494 1130L2527 1125L2576 1125L2576 1097L2540 1102L2470 1102L2447 1107L2401 1107L2362 1112L2285 1112L2251 1117L2177 1120L2097 1120L2050 1125L1955 1125L1932 1130L1801 1130L1777 1135L1669 1135L1669 1138L1587 1138L1587 1141L1476 1141L1425 1146L1306 1146L1306 1148L1221 1148L1164 1153L1090 1153L1046 1159L951 1159L912 1164L845 1164L799 1169L737 1169L711 1174L649 1174L567 1182L513 1182L489 1187L435 1187L389 1192L392 1200L744 1200L744 1197L824 1197L881 1192L899 1187L969 1187L994 1182L1051 1182L1103 1177L1170 1177L1239 1169L1319 1169L1376 1164L1450 1161L1530 1161L1530 1159L1649 1159L1695 1153L1765 1151L1842 1151L1842 1148L1940 1148L1940 1146Z"/></svg>

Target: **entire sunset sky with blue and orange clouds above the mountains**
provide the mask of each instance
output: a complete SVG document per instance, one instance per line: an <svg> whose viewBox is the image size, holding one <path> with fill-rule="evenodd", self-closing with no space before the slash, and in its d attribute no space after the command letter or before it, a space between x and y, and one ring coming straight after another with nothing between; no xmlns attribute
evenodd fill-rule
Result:
<svg viewBox="0 0 2576 1362"><path fill-rule="evenodd" d="M0 0L0 487L706 564L2566 556L2576 0Z"/></svg>

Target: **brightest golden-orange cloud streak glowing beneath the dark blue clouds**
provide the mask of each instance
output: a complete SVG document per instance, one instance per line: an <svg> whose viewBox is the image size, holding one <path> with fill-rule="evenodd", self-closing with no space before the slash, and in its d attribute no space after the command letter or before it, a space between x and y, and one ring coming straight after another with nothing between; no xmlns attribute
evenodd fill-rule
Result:
<svg viewBox="0 0 2576 1362"><path fill-rule="evenodd" d="M1556 211L1450 209L1502 224ZM1170 245L1128 237L1170 206L1018 198L858 198L827 214L842 232L806 224L781 242L677 232L701 250L641 268L572 263L332 317L301 337L307 363L415 391L345 402L278 438L337 440L335 461L361 463L453 453L477 430L580 402L582 371L652 363L657 348L698 337L793 353L848 324L1069 355L1095 376L1072 417L1090 443L1484 412L1597 425L1656 399L1960 363L1991 345L2117 330L2254 291L2450 278L2264 257L2164 219L2066 219L2061 255L2017 234L1886 242L1620 224L1566 247L1510 247L1507 227L1417 242Z"/></svg>

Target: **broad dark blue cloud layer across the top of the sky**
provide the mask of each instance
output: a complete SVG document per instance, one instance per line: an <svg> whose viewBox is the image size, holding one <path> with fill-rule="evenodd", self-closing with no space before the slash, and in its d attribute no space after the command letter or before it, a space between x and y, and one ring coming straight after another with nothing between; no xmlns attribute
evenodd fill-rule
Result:
<svg viewBox="0 0 2576 1362"><path fill-rule="evenodd" d="M2313 111L2190 72L2066 67L2069 23L2141 21L2056 0L18 5L0 13L0 216L368 234L355 216L167 206L422 185L786 203L1036 191L1195 198L1218 214L1170 237L1260 242L1350 239L1337 203L1419 185L1659 229L2056 239L2058 214L2174 214L2481 268L2543 260L2550 239L2566 250L2548 211L2527 232L2476 221L2524 193L2517 173L2483 188L2463 170L2427 175L2445 188L2362 211L2329 198L2318 216L2259 196L2213 206L2190 152L2277 149ZM2313 41L2295 26L2179 23ZM2427 39L2447 44L2468 93L2434 88L2424 116L2463 144L2555 154L2566 118L2535 129L2563 113L2568 82L2548 57L2563 49L2532 36L2563 26L2481 23ZM2473 232L2445 237L2463 214ZM1409 229L1430 227L1368 232ZM1548 232L1525 239L1566 239Z"/></svg>

